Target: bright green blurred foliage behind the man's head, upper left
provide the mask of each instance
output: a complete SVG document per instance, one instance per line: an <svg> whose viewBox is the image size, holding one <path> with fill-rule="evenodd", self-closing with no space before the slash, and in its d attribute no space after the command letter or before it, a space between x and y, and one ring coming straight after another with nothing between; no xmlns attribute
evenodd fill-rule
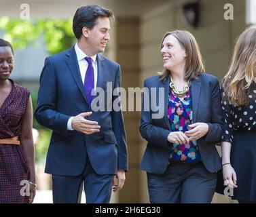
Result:
<svg viewBox="0 0 256 217"><path fill-rule="evenodd" d="M72 20L20 20L0 18L3 39L12 43L14 50L38 46L42 37L49 54L67 50L75 41Z"/></svg>

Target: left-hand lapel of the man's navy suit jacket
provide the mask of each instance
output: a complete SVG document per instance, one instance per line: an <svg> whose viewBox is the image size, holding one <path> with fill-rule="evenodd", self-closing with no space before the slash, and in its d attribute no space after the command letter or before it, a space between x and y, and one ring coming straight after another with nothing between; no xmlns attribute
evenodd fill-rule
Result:
<svg viewBox="0 0 256 217"><path fill-rule="evenodd" d="M86 100L86 103L88 104L85 90L84 90L84 84L81 81L81 74L79 71L79 65L77 62L77 54L75 54L75 47L72 47L68 52L67 52L67 65L69 66L69 70L71 71L71 74L73 75L75 82L77 83L77 87L79 88L81 94L84 97L84 100Z"/></svg>

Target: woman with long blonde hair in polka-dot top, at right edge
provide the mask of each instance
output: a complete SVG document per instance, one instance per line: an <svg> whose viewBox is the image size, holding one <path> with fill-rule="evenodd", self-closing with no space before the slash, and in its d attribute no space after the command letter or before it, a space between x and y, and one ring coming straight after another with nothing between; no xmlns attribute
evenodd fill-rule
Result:
<svg viewBox="0 0 256 217"><path fill-rule="evenodd" d="M238 38L223 79L223 180L233 199L256 202L256 27Z"/></svg>

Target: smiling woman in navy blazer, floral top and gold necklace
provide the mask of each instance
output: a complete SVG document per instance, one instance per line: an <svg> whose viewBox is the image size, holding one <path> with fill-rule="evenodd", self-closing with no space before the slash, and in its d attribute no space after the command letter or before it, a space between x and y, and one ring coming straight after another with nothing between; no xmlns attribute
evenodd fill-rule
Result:
<svg viewBox="0 0 256 217"><path fill-rule="evenodd" d="M172 31L162 40L164 71L144 81L141 169L151 203L211 203L223 132L219 81L204 73L193 35Z"/></svg>

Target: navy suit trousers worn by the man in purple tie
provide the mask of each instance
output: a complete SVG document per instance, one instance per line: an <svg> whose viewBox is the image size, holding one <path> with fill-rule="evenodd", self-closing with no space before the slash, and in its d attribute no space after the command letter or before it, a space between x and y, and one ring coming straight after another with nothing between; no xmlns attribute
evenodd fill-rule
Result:
<svg viewBox="0 0 256 217"><path fill-rule="evenodd" d="M84 182L86 203L109 203L113 175L99 175L94 172L87 156L86 167L80 176L52 175L54 203L80 203L81 186Z"/></svg>

